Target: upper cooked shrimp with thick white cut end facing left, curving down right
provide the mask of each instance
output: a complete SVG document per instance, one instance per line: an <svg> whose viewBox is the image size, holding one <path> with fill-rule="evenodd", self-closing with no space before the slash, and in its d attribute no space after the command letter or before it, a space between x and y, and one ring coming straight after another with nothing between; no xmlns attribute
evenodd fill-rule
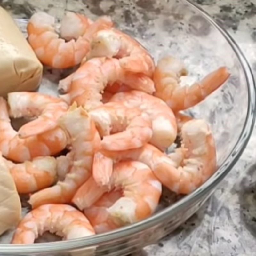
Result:
<svg viewBox="0 0 256 256"><path fill-rule="evenodd" d="M93 36L88 57L116 57L126 71L153 76L154 60L135 39L116 28L100 30Z"/></svg>

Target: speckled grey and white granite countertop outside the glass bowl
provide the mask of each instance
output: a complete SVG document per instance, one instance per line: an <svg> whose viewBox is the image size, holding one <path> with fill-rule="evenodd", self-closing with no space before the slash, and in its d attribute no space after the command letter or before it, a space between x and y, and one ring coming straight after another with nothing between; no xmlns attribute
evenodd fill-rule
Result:
<svg viewBox="0 0 256 256"><path fill-rule="evenodd" d="M82 0L86 5L86 0ZM95 0L96 1L96 0ZM174 0L173 0L174 1ZM50 12L76 1L40 1ZM221 21L256 72L256 1L194 0ZM24 4L25 3L25 4ZM5 8L29 18L36 1L0 0ZM16 12L16 13L15 13ZM173 234L136 255L201 256L255 255L256 252L256 130L232 172L207 203Z"/></svg>

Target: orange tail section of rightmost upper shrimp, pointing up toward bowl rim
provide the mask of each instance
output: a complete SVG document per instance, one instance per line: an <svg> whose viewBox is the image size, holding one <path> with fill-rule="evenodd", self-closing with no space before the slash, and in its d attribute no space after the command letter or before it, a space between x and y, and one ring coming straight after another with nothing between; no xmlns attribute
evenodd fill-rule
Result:
<svg viewBox="0 0 256 256"><path fill-rule="evenodd" d="M201 82L177 87L167 103L174 112L193 107L224 84L229 76L228 68L221 67L205 76Z"/></svg>

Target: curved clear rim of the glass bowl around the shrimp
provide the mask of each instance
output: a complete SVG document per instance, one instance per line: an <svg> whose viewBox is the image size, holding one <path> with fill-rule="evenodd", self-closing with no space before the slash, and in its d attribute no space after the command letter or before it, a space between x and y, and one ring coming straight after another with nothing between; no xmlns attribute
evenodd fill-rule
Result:
<svg viewBox="0 0 256 256"><path fill-rule="evenodd" d="M147 228L151 228L154 225L160 224L164 220L168 219L168 216L177 214L178 212L182 212L191 203L198 201L201 197L203 197L207 193L210 193L220 183L220 181L224 179L224 177L228 174L228 172L230 172L230 170L236 164L237 160L242 155L250 139L255 122L256 88L251 67L246 58L244 57L243 52L236 44L235 40L220 24L217 24L214 20L212 20L211 16L208 13L206 13L196 4L190 2L190 0L181 1L188 4L190 7L192 7L192 9L196 9L197 12L204 16L204 18L207 19L212 24L213 27L217 28L219 32L225 37L227 42L232 47L233 51L236 53L236 57L238 58L243 68L244 75L246 78L248 89L248 107L244 127L239 136L239 139L236 142L236 145L234 146L228 157L225 159L223 164L219 167L217 172L215 172L215 174L209 180L207 180L201 187L196 189L191 194L183 197L175 204L172 204L171 206L147 218L146 220L104 234L74 240L30 245L0 244L0 254L4 253L5 255L9 255L13 253L54 253L61 251L64 252L66 250L79 250L85 247L97 246L101 243L111 242L112 240L115 239L120 239L129 235L136 234Z"/></svg>

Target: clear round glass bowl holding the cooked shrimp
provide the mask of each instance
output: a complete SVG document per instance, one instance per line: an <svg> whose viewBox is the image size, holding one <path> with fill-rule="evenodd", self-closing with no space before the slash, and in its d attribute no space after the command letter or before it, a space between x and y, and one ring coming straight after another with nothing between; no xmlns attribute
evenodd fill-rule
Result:
<svg viewBox="0 0 256 256"><path fill-rule="evenodd" d="M33 8L30 6L30 12L24 11L25 16L17 12L17 5L10 5L9 9L18 23L26 23L26 18L29 18L26 14L30 16L34 9L45 10L45 6L51 6L45 11L58 18L65 10L84 12L91 18L110 15L119 28L148 48L155 60L165 54L183 59L190 73L183 82L192 83L224 65L232 76L207 100L187 111L195 117L205 118L211 124L216 140L218 170L200 188L133 225L69 241L32 245L0 244L0 255L122 256L164 237L204 204L246 147L254 124L256 98L252 72L243 53L220 25L186 0L124 0L118 4L110 0L68 0L54 1L54 4L33 1L33 4L29 4ZM43 83L46 80L44 78Z"/></svg>

